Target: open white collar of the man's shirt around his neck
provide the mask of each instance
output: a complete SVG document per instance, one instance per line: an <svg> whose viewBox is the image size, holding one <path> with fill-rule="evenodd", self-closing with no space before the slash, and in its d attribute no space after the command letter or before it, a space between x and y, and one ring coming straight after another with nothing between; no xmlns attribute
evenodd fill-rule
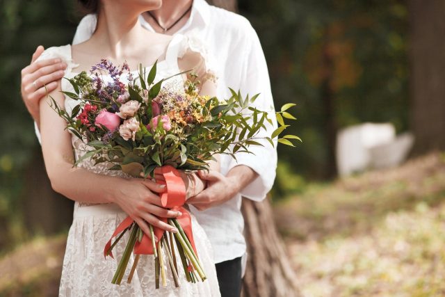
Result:
<svg viewBox="0 0 445 297"><path fill-rule="evenodd" d="M206 27L210 21L210 5L205 0L193 0L192 11L190 18L187 20L186 24L182 26L177 33L182 33L187 29L195 29L196 27ZM142 15L139 17L139 22L145 29L149 31L154 31L153 27L144 19Z"/></svg>

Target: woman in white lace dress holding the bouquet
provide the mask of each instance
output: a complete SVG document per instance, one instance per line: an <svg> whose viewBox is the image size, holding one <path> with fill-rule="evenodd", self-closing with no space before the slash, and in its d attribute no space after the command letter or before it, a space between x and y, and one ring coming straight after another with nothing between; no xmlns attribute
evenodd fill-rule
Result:
<svg viewBox="0 0 445 297"><path fill-rule="evenodd" d="M72 78L106 58L113 64L127 61L136 70L142 63L149 67L158 62L155 81L193 69L200 77L203 95L215 95L216 85L206 68L205 58L189 45L183 35L171 37L152 33L138 24L138 16L161 6L162 0L99 0L81 1L88 8L97 8L97 29L88 41L79 45L51 47L40 59L60 58L67 63L65 77ZM89 72L88 72L89 73ZM104 80L111 77L104 77ZM122 77L123 79L123 77ZM184 79L175 77L165 82L165 88L183 88ZM72 92L66 79L49 95L68 113L77 104L60 91ZM172 278L166 287L155 289L154 258L140 257L130 284L111 284L120 255L127 242L118 243L116 259L104 259L104 245L124 218L129 215L149 234L148 223L170 232L177 232L158 217L176 217L177 211L163 209L159 196L163 187L149 179L135 179L123 172L106 169L106 164L94 166L86 160L73 168L75 159L83 154L86 145L65 130L66 123L51 109L48 100L40 101L40 132L44 163L55 191L75 201L74 219L67 239L60 296L220 296L216 270L209 240L194 217L193 236L207 280L187 282L179 273L181 286L175 288ZM204 183L197 175L181 173L187 186L187 198L200 193ZM128 233L128 232L127 232ZM133 264L130 260L126 275ZM178 265L181 265L180 263Z"/></svg>

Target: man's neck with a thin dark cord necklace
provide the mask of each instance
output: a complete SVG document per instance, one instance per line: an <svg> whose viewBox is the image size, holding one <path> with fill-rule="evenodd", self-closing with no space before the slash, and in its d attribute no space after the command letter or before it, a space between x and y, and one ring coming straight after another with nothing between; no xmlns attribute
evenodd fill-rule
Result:
<svg viewBox="0 0 445 297"><path fill-rule="evenodd" d="M152 26L154 31L172 35L179 31L190 18L190 11L186 13L186 15L184 15L184 13L192 4L193 0L163 0L161 8L144 13L143 17L145 21ZM154 18L156 18L156 20ZM178 19L179 22L177 22ZM177 24L175 24L175 22L177 22ZM172 26L173 24L175 24L175 26ZM171 29L169 29L170 26L172 26ZM164 29L169 30L165 32Z"/></svg>

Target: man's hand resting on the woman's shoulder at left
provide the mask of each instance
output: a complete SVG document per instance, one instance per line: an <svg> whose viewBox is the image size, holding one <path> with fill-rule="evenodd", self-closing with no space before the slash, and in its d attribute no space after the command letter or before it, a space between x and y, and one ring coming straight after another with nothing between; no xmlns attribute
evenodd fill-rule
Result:
<svg viewBox="0 0 445 297"><path fill-rule="evenodd" d="M57 88L58 80L63 77L67 67L60 58L35 63L43 51L44 48L39 45L35 49L31 64L22 69L22 99L38 125L40 124L40 99Z"/></svg>

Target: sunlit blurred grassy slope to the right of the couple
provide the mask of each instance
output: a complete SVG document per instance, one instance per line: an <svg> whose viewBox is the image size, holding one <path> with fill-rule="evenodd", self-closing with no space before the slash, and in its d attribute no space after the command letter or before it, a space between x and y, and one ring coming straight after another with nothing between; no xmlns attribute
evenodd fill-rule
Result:
<svg viewBox="0 0 445 297"><path fill-rule="evenodd" d="M275 207L304 296L445 296L445 158L330 185Z"/></svg>

